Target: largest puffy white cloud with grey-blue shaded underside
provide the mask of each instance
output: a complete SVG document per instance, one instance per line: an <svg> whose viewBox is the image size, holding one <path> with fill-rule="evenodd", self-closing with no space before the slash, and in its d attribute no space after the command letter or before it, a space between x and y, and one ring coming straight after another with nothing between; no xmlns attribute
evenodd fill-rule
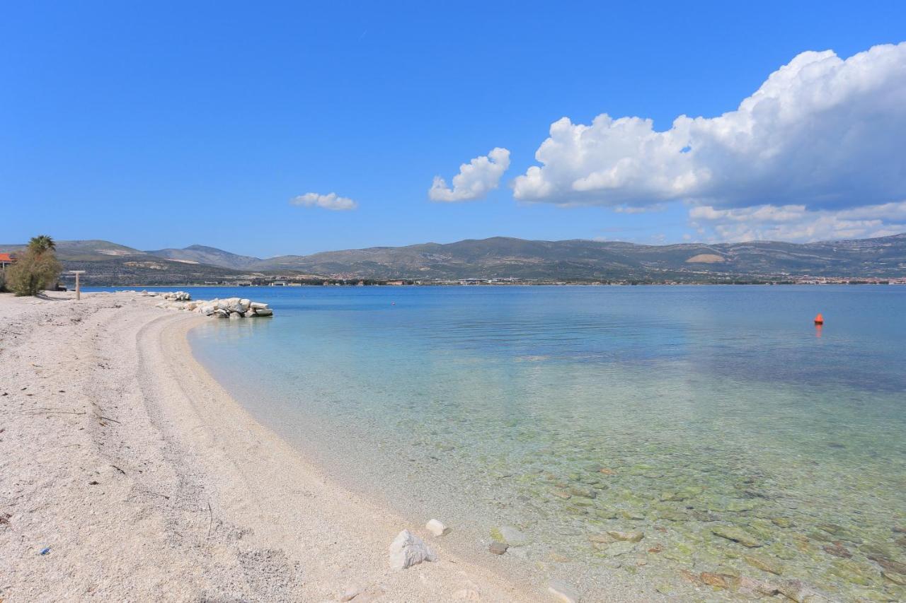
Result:
<svg viewBox="0 0 906 603"><path fill-rule="evenodd" d="M651 120L555 121L516 177L517 199L561 205L881 206L906 198L906 43L843 61L807 52L737 110ZM842 218L841 218L842 219Z"/></svg>

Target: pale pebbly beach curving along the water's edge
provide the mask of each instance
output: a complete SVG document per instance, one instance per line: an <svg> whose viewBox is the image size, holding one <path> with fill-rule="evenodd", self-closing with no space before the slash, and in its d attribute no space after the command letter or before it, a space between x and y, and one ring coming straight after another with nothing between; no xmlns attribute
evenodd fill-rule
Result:
<svg viewBox="0 0 906 603"><path fill-rule="evenodd" d="M209 319L130 293L53 295L0 295L3 603L336 601L347 585L357 603L552 600L256 423L189 352L186 332ZM404 528L439 561L390 570Z"/></svg>

